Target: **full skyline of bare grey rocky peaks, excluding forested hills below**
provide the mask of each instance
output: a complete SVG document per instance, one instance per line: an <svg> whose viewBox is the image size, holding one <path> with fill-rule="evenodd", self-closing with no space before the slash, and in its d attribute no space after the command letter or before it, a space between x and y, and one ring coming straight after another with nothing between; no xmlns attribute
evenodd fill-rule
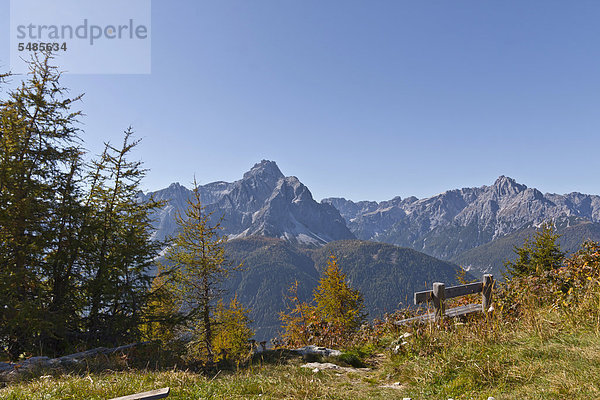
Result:
<svg viewBox="0 0 600 400"><path fill-rule="evenodd" d="M353 202L340 197L319 203L298 178L286 177L275 162L263 160L238 181L213 182L198 190L214 222L223 217L223 233L232 239L259 235L318 247L356 238L412 248L480 271L500 271L513 246L543 222L553 222L569 236L567 251L585 239L600 239L600 196L543 194L506 176L491 186L424 199ZM167 202L154 216L157 239L175 233L175 215L185 209L190 195L178 183L140 194L142 200L154 196ZM490 262L486 249L497 259Z"/></svg>

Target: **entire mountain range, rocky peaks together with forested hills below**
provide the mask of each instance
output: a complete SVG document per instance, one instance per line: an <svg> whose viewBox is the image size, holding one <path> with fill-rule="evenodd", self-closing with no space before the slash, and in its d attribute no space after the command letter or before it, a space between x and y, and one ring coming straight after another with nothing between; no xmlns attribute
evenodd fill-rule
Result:
<svg viewBox="0 0 600 400"><path fill-rule="evenodd" d="M254 165L240 180L198 186L201 202L221 221L230 240L226 251L246 269L227 291L248 306L257 338L277 333L290 285L311 297L327 258L335 254L352 286L365 298L371 317L410 304L414 291L434 281L456 283L458 265L469 278L500 276L513 249L544 222L574 251L586 239L600 240L600 196L543 194L500 176L491 186L449 190L418 199L353 202L314 200L294 176L273 161ZM154 215L155 238L177 232L192 191L178 183L150 193L165 205Z"/></svg>

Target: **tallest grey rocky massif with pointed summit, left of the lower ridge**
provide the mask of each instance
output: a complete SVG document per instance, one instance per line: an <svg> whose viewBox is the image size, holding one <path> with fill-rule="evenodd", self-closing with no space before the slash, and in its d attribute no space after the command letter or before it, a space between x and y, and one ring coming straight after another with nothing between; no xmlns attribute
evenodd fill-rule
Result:
<svg viewBox="0 0 600 400"><path fill-rule="evenodd" d="M213 222L223 217L224 233L232 238L262 235L308 245L354 238L335 207L316 202L298 178L285 177L273 161L261 161L239 181L209 183L199 191ZM157 239L176 232L175 216L185 210L191 194L174 183L142 196L167 202L154 216Z"/></svg>

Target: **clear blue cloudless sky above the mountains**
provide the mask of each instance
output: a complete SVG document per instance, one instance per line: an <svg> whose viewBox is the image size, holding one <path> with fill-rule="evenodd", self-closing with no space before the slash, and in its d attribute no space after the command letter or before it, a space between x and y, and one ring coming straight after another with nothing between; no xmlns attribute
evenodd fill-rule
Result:
<svg viewBox="0 0 600 400"><path fill-rule="evenodd" d="M90 150L128 125L143 138L146 189L233 181L266 158L317 200L501 174L600 194L599 21L584 0L154 0L151 75L64 83L85 92Z"/></svg>

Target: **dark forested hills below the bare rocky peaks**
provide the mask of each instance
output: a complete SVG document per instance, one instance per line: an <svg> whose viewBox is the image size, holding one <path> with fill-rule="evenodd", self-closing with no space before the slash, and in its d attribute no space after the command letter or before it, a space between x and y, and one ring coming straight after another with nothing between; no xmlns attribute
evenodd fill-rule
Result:
<svg viewBox="0 0 600 400"><path fill-rule="evenodd" d="M309 248L250 236L228 241L225 249L230 260L244 262L244 270L235 272L225 289L250 309L257 340L277 335L279 313L291 306L287 297L292 283L298 282L301 301L310 300L331 254L336 255L350 285L363 295L369 318L412 304L413 293L436 280L457 282L456 265L386 243L340 240Z"/></svg>

